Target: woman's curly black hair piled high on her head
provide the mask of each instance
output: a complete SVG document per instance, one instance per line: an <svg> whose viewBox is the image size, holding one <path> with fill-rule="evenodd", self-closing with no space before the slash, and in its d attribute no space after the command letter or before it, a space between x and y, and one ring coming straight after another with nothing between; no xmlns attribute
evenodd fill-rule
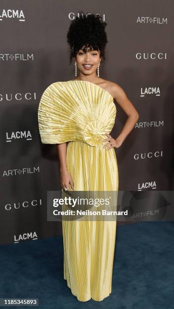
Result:
<svg viewBox="0 0 174 309"><path fill-rule="evenodd" d="M105 27L107 23L102 21L99 14L80 11L71 22L67 33L67 42L70 45L70 64L79 49L85 53L87 48L100 51L101 62L105 61L105 46L108 42Z"/></svg>

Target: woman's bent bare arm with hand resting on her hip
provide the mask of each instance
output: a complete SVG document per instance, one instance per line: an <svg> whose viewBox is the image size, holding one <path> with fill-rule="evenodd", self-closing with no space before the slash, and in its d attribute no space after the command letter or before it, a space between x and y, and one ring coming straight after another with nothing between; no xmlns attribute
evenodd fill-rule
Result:
<svg viewBox="0 0 174 309"><path fill-rule="evenodd" d="M109 143L107 143L103 147L107 148L107 150L113 147L118 148L119 146L121 146L127 135L130 133L130 131L133 130L135 124L137 123L137 120L139 119L139 114L137 110L133 106L132 102L130 102L130 100L127 98L124 90L118 84L112 83L111 91L112 96L115 98L117 104L119 104L119 106L128 117L120 134L116 139L114 139L108 133L105 134L107 138L103 139L103 141L109 141Z"/></svg>

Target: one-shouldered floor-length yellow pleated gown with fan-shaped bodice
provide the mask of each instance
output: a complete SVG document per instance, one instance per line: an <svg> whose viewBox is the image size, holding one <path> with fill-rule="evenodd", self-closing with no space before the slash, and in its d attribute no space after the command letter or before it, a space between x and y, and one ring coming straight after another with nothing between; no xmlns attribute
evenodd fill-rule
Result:
<svg viewBox="0 0 174 309"><path fill-rule="evenodd" d="M103 148L102 141L115 116L111 94L92 82L55 82L43 92L38 108L41 142L68 142L66 160L74 191L118 190L115 151ZM116 220L63 220L62 228L68 287L79 301L103 300L112 290Z"/></svg>

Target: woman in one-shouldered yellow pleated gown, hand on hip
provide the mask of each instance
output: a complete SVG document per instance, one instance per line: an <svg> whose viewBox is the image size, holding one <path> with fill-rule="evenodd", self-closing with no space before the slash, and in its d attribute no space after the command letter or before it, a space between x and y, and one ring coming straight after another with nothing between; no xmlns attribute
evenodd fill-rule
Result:
<svg viewBox="0 0 174 309"><path fill-rule="evenodd" d="M67 41L76 78L51 84L40 99L41 141L57 144L62 194L117 191L114 148L120 147L139 118L123 89L99 77L105 60L105 26L101 16L82 11L71 22ZM128 116L117 138L109 134L116 116L114 99ZM79 301L103 300L112 287L116 220L63 220L62 228L68 287Z"/></svg>

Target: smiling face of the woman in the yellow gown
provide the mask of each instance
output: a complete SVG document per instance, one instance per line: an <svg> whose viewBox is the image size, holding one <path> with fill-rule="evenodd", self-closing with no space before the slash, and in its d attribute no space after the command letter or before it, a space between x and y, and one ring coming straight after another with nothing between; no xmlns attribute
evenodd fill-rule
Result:
<svg viewBox="0 0 174 309"><path fill-rule="evenodd" d="M97 70L98 64L101 61L100 50L90 50L88 48L84 52L82 49L79 49L74 60L77 62L78 70L81 73L91 75Z"/></svg>

